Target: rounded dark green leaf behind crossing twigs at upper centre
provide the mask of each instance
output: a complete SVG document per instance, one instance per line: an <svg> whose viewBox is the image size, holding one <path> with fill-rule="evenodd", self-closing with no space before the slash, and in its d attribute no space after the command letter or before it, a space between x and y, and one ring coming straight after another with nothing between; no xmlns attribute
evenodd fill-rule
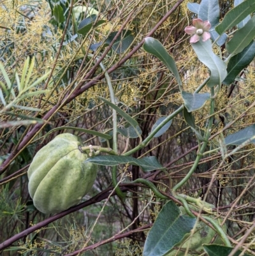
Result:
<svg viewBox="0 0 255 256"><path fill-rule="evenodd" d="M113 38L115 38L117 33L118 31L114 31L110 33L105 42L108 43L108 45L110 45L110 43L112 42ZM130 30L124 29L122 33L120 33L120 35L114 41L112 45L112 49L118 54L125 52L125 50L129 48L133 40L134 40L134 36L132 32Z"/></svg>

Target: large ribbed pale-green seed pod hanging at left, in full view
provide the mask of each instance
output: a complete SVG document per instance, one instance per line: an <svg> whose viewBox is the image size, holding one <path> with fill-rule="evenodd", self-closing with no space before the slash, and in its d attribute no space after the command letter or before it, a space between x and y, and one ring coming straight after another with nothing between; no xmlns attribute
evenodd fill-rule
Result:
<svg viewBox="0 0 255 256"><path fill-rule="evenodd" d="M91 190L98 165L84 163L80 139L71 133L57 135L34 156L27 172L29 194L42 213L59 213L77 205Z"/></svg>

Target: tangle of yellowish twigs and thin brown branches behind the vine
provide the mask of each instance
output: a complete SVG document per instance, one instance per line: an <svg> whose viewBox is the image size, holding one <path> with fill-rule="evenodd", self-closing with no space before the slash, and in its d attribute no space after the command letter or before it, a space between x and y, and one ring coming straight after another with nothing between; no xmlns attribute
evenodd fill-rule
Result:
<svg viewBox="0 0 255 256"><path fill-rule="evenodd" d="M219 1L221 19L233 8L233 2ZM14 237L10 245L4 246L3 255L142 255L148 230L166 201L155 197L146 186L130 182L143 177L169 195L186 176L196 159L198 142L182 112L163 135L133 154L135 158L156 156L166 172L147 173L135 165L118 167L120 189L128 192L125 200L113 191L112 167L100 165L96 183L82 206L63 215L43 215L29 197L26 171L34 154L63 132L56 130L44 138L54 128L111 132L112 109L99 98L110 98L101 61L110 74L118 107L139 123L142 139L159 117L170 115L184 103L173 74L142 45L146 36L159 40L175 60L184 91L193 93L207 79L208 70L198 62L184 33L184 27L194 18L187 3L1 2L0 241ZM87 23L81 25L88 17ZM111 45L113 38L116 40ZM215 46L214 52L219 53L219 48ZM225 57L225 44L221 52ZM210 93L210 88L203 87L201 92ZM221 135L227 137L254 124L253 105L251 62L234 82L225 82L215 97L207 151L222 149ZM201 135L207 130L209 109L210 102L206 102L203 108L193 111ZM224 130L231 122L230 129ZM122 116L118 116L118 125L126 128ZM89 133L71 129L64 132L79 135L88 145L106 143ZM139 137L118 133L119 153L139 144ZM235 147L230 146L230 150ZM214 217L226 217L227 235L235 247L253 227L253 180L254 146L249 144L223 164L221 150L207 154L177 192L195 199L207 195L207 202L215 206ZM40 227L36 227L38 223ZM26 231L31 228L33 232ZM253 231L240 246L247 246L248 252L255 254Z"/></svg>

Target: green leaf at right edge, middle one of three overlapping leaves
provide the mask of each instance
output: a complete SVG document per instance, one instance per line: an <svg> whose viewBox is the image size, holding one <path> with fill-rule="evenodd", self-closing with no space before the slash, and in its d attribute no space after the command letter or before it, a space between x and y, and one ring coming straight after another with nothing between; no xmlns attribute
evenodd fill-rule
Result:
<svg viewBox="0 0 255 256"><path fill-rule="evenodd" d="M242 52L255 37L255 16L253 16L242 29L239 29L226 44L226 49L231 54Z"/></svg>

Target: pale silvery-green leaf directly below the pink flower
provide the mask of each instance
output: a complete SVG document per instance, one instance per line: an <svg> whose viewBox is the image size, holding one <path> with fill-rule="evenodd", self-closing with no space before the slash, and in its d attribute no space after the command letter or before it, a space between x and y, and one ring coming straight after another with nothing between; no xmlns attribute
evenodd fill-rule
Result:
<svg viewBox="0 0 255 256"><path fill-rule="evenodd" d="M212 51L212 41L200 41L191 43L198 59L205 64L210 70L210 79L207 82L207 86L213 87L221 85L222 81L228 75L227 66L222 59L214 54Z"/></svg>

